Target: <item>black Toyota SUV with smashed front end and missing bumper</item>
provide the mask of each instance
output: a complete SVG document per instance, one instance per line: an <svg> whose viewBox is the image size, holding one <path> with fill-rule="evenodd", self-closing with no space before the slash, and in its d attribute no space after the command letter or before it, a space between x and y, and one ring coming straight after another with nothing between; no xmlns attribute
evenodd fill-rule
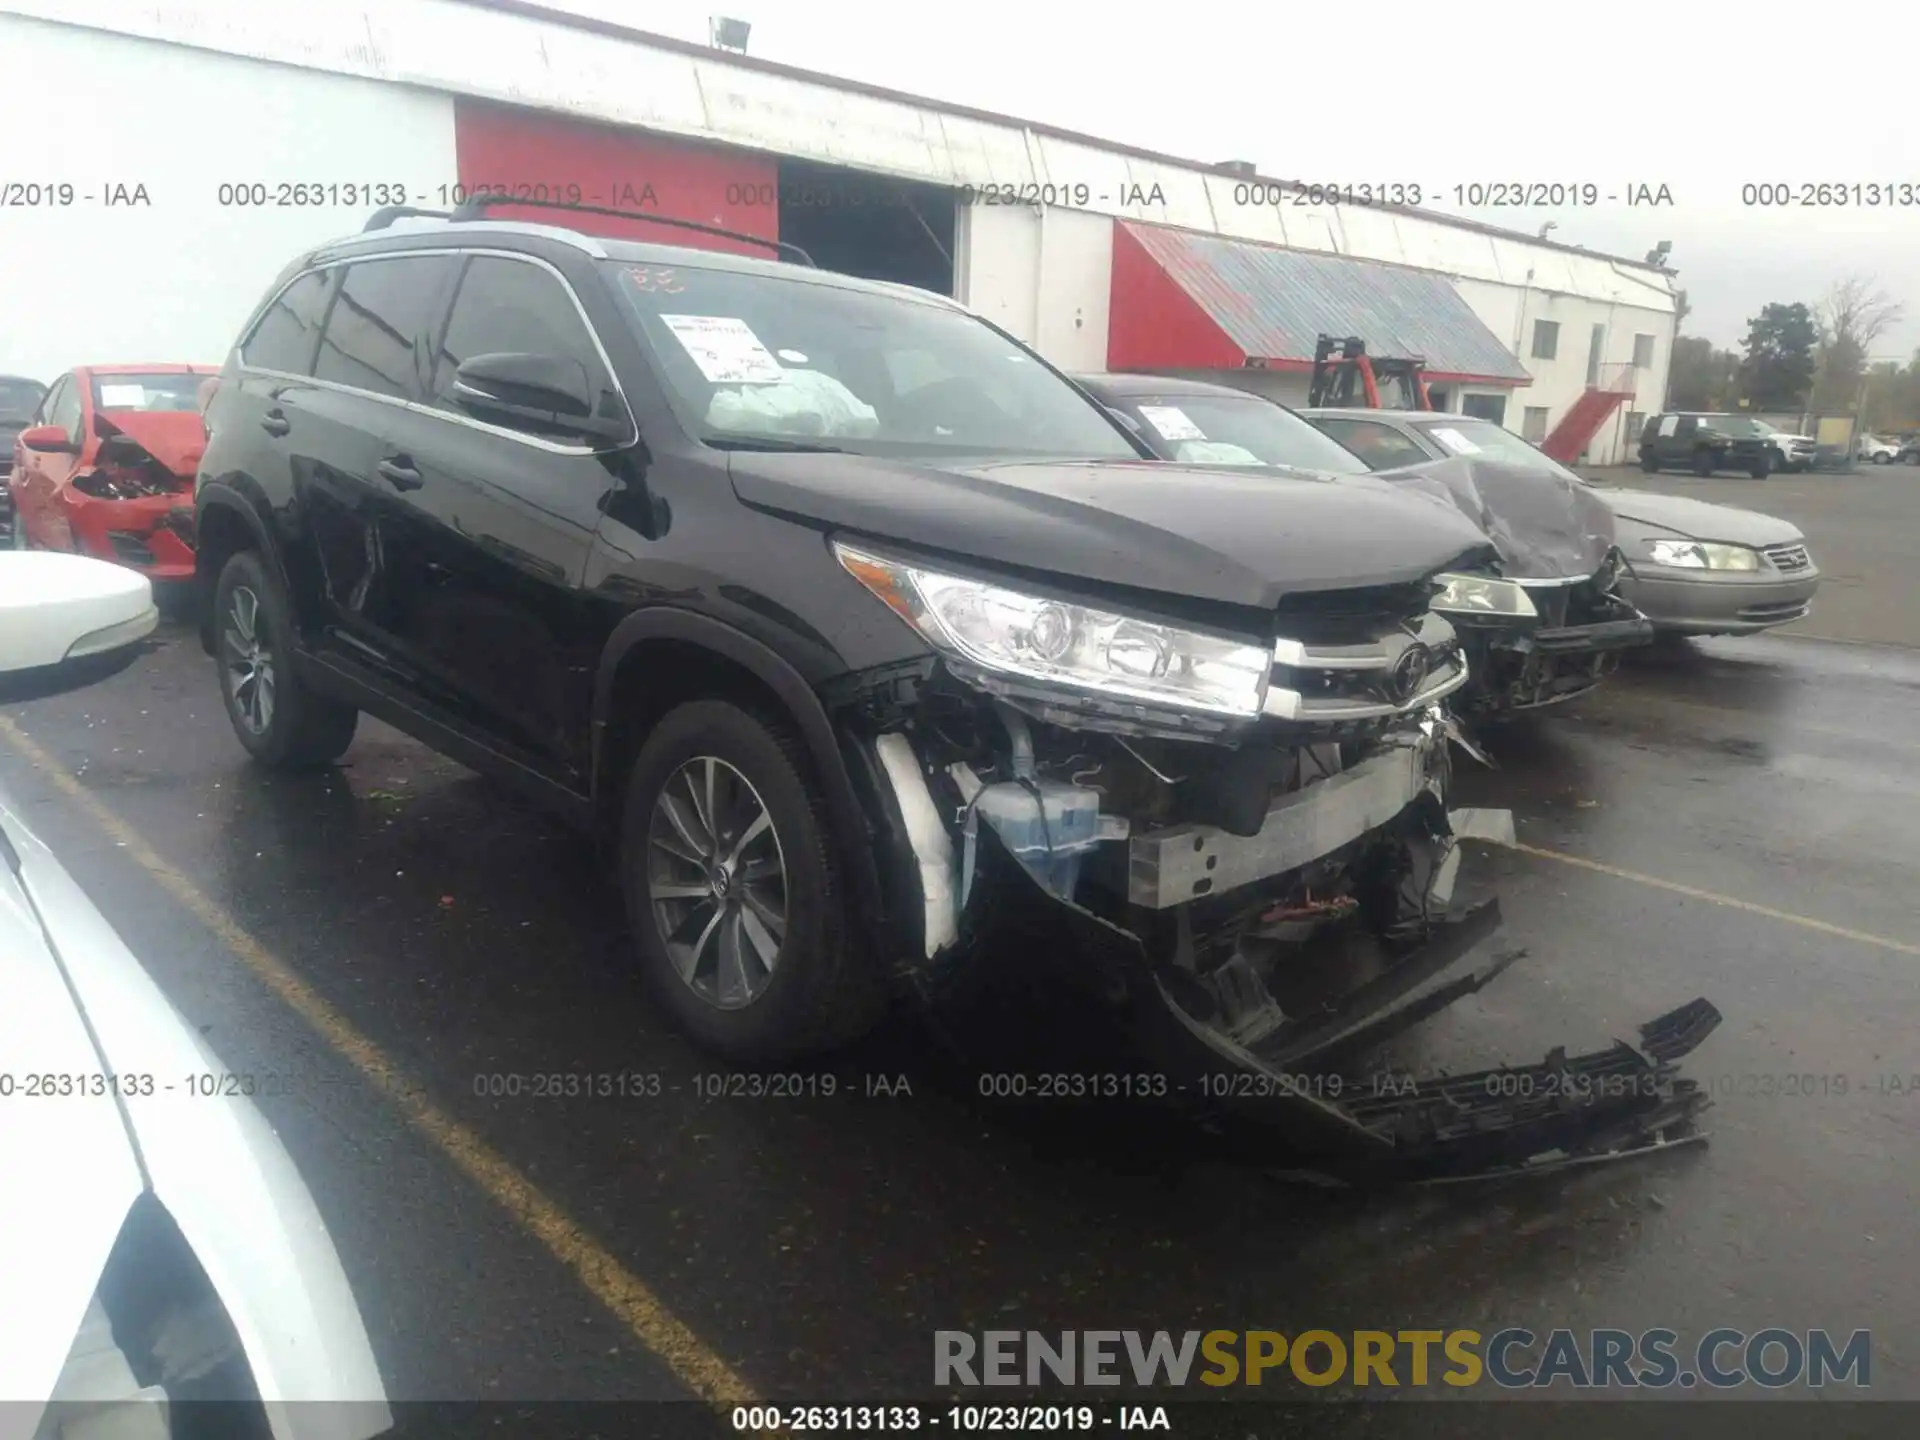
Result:
<svg viewBox="0 0 1920 1440"><path fill-rule="evenodd" d="M196 499L240 743L319 766L367 712L591 828L639 972L745 1064L1008 952L1198 1069L1430 1014L1498 922L1448 906L1428 609L1480 532L1154 463L962 305L781 250L468 209L298 257ZM1309 1000L1327 929L1384 958ZM1304 1123L1407 1154L1384 1110Z"/></svg>

